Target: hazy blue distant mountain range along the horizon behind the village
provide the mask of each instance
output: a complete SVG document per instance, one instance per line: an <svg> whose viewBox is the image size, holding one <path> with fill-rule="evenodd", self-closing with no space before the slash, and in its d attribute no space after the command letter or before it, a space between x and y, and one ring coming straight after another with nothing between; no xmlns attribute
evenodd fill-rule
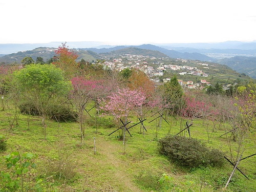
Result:
<svg viewBox="0 0 256 192"><path fill-rule="evenodd" d="M46 61L53 57L54 48L56 49L60 45L61 42L50 42L49 44L0 44L0 62L20 62L25 56L31 56L34 60L40 56ZM182 58L220 63L239 73L256 78L256 41L226 41L212 44L143 44L139 46L104 46L102 42L81 41L69 42L67 45L69 48L79 51L78 59L83 58L87 61L100 59L106 54L116 55L123 53ZM35 46L41 47L34 48ZM30 50L31 48L33 49ZM52 49L52 51L42 51L42 49L46 48ZM14 53L15 50L19 51ZM12 52L12 54L5 55L8 52Z"/></svg>

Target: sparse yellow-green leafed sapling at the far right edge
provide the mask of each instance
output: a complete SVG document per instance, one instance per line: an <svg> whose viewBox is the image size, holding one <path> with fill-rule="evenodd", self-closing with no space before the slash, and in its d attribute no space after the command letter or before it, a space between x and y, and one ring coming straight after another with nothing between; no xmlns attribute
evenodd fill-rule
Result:
<svg viewBox="0 0 256 192"><path fill-rule="evenodd" d="M248 149L248 138L255 138L256 92L254 86L255 84L248 84L246 87L238 87L237 97L232 102L233 106L228 109L230 111L229 123L232 130L229 131L231 136L226 137L226 139L233 162L238 161L240 156ZM227 134L225 135L227 136ZM234 141L237 145L230 144Z"/></svg>

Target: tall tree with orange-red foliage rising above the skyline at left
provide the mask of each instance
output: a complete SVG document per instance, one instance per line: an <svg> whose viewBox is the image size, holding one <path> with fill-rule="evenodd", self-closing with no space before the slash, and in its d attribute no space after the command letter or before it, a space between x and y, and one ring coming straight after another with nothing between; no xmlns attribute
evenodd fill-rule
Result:
<svg viewBox="0 0 256 192"><path fill-rule="evenodd" d="M59 46L55 51L57 60L53 62L54 65L58 66L65 72L66 77L72 78L77 72L78 65L76 59L78 55L72 50L68 49L65 44Z"/></svg>

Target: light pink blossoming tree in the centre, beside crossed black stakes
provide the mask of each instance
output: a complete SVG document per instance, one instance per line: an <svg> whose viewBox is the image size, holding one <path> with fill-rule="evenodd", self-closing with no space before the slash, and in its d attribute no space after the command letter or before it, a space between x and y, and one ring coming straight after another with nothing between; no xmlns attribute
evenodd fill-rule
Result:
<svg viewBox="0 0 256 192"><path fill-rule="evenodd" d="M120 118L124 119L124 124L127 123L127 117L130 112L135 108L141 108L145 102L145 95L140 90L130 90L127 88L119 89L117 93L113 93L108 96L100 107L105 113L114 116L115 120L118 122ZM123 143L125 141L125 131L126 128L123 126Z"/></svg>

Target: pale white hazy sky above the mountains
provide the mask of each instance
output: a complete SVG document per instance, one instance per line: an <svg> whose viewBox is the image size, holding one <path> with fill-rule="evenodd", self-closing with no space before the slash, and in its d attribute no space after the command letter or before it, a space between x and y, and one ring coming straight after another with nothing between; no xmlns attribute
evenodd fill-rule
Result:
<svg viewBox="0 0 256 192"><path fill-rule="evenodd" d="M0 43L252 41L255 7L255 0L0 0Z"/></svg>

